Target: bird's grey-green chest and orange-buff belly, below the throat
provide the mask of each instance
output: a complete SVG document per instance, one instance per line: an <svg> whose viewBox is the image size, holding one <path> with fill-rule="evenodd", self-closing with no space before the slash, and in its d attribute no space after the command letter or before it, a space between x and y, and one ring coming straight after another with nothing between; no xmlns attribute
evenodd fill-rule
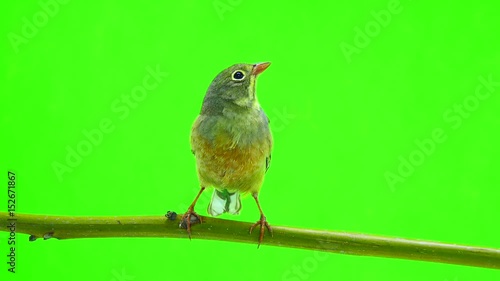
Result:
<svg viewBox="0 0 500 281"><path fill-rule="evenodd" d="M263 120L263 119L261 119ZM258 192L272 148L267 122L231 122L200 115L191 132L200 184L229 191Z"/></svg>

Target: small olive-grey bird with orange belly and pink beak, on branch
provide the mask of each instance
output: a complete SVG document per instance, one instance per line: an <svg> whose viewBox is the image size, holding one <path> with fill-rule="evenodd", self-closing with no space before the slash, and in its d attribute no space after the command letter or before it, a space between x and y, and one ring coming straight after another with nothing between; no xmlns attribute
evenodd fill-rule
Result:
<svg viewBox="0 0 500 281"><path fill-rule="evenodd" d="M252 194L260 211L259 245L265 228L272 229L260 207L258 194L271 163L273 138L269 119L255 94L257 76L269 62L235 64L215 77L210 84L200 115L191 130L191 150L196 158L200 192L181 219L191 237L192 216L196 201L205 188L214 187L208 213L238 214L240 194Z"/></svg>

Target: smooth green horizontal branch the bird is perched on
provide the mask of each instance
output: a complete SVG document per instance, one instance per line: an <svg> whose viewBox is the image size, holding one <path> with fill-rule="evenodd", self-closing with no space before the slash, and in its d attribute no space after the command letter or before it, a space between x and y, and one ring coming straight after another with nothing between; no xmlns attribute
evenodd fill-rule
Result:
<svg viewBox="0 0 500 281"><path fill-rule="evenodd" d="M174 220L163 216L69 217L0 212L3 225L15 219L16 233L31 238L169 237L187 239ZM192 228L193 239L257 244L259 231L248 234L251 223L202 217ZM10 231L2 227L2 231ZM266 233L263 245L301 248L331 253L432 261L500 269L500 249L479 248L429 241L382 237L348 232L320 231L273 226L274 237Z"/></svg>

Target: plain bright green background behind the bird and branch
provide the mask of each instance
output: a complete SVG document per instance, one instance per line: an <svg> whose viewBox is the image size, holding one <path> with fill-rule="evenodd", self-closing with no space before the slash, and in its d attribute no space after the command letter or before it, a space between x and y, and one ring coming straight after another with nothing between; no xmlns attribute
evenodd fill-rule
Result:
<svg viewBox="0 0 500 281"><path fill-rule="evenodd" d="M18 213L183 212L198 190L190 127L210 81L233 63L271 61L257 92L274 129L260 196L272 225L500 248L500 85L480 82L500 81L495 1L142 2L1 4L0 174L17 173ZM113 109L157 66L168 76L128 114ZM102 120L114 130L58 176L54 162L66 165ZM424 155L416 142L435 130L444 141ZM413 171L399 173L410 155ZM247 197L240 216L222 218L251 222L258 211ZM0 238L1 280L500 280L265 245L22 234L13 275Z"/></svg>

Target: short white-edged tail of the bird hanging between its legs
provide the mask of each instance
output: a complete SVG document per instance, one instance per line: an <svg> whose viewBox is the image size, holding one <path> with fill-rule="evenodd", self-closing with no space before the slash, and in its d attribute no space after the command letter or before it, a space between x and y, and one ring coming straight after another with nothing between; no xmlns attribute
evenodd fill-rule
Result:
<svg viewBox="0 0 500 281"><path fill-rule="evenodd" d="M237 215L240 213L241 200L238 191L229 192L227 189L217 190L214 188L212 201L208 205L208 213L211 216L218 216L223 213Z"/></svg>

